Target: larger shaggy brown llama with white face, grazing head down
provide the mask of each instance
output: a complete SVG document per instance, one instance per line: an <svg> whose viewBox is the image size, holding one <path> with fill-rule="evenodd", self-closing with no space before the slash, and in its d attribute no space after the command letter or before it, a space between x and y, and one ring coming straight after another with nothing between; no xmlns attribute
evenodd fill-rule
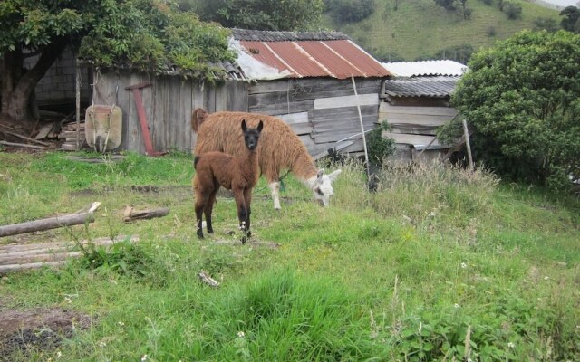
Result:
<svg viewBox="0 0 580 362"><path fill-rule="evenodd" d="M208 114L198 108L191 114L191 128L198 134L194 153L203 155L209 151L221 151L237 155L244 150L242 136L237 132L241 119L248 125L264 121L261 141L257 147L258 164L262 175L266 176L274 200L274 208L280 209L280 173L287 169L310 188L314 199L328 206L333 195L333 181L341 173L336 170L324 175L324 169L317 169L304 143L284 120L256 113L221 111Z"/></svg>

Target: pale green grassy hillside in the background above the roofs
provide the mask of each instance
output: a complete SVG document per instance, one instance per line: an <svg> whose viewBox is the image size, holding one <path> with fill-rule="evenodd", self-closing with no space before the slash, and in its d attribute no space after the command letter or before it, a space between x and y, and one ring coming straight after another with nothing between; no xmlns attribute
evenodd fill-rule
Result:
<svg viewBox="0 0 580 362"><path fill-rule="evenodd" d="M360 23L335 24L325 15L324 26L350 35L382 61L413 61L464 45L477 51L522 29L534 29L538 18L554 19L560 24L557 10L526 1L513 2L522 6L521 19L508 19L497 2L486 5L481 0L469 0L467 6L472 14L469 20L464 20L433 0L382 0L377 1L374 14ZM453 58L453 54L447 57Z"/></svg>

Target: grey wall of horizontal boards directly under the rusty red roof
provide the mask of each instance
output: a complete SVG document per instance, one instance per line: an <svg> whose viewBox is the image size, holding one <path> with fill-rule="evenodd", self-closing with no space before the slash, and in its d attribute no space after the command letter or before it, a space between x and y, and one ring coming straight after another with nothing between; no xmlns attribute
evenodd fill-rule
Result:
<svg viewBox="0 0 580 362"><path fill-rule="evenodd" d="M304 78L259 81L248 87L248 110L285 119L311 154L348 146L343 152L361 152L362 136L357 104L364 129L374 129L379 115L381 79ZM352 137L353 138L349 138ZM343 138L348 141L336 143Z"/></svg>

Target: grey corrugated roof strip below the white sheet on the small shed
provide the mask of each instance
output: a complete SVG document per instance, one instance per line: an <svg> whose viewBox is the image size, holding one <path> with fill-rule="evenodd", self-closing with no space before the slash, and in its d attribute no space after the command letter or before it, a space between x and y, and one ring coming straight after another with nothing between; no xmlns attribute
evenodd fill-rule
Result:
<svg viewBox="0 0 580 362"><path fill-rule="evenodd" d="M391 97L449 97L460 77L420 77L407 80L385 80L382 96Z"/></svg>

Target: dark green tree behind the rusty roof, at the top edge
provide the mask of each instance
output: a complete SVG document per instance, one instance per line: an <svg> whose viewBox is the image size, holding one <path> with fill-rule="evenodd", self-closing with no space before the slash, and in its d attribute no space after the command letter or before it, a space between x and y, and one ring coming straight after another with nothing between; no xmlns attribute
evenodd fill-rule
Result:
<svg viewBox="0 0 580 362"><path fill-rule="evenodd" d="M323 0L208 0L202 8L206 20L226 27L254 30L304 31L316 28L324 10ZM218 11L210 14L208 8ZM206 9L206 10L204 10Z"/></svg>

